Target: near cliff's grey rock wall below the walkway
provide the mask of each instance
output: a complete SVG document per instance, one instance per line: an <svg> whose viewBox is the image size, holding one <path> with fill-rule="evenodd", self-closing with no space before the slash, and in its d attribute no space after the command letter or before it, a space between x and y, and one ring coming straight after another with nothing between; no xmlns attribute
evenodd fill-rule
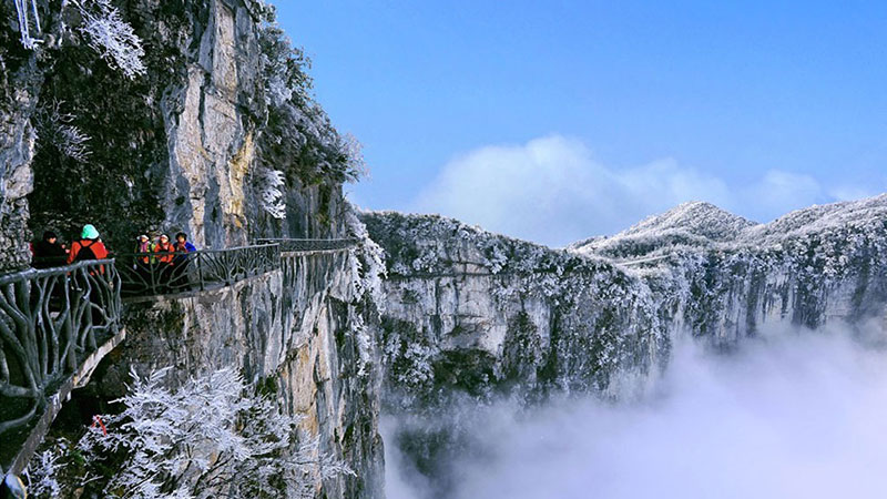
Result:
<svg viewBox="0 0 887 499"><path fill-rule="evenodd" d="M128 305L128 340L90 389L103 399L123 395L131 368L171 366L176 385L237 367L276 391L284 410L305 416L319 450L355 471L317 483L318 497L383 497L378 354L364 327L374 315L355 258L353 251L285 256L282 271L227 288Z"/></svg>

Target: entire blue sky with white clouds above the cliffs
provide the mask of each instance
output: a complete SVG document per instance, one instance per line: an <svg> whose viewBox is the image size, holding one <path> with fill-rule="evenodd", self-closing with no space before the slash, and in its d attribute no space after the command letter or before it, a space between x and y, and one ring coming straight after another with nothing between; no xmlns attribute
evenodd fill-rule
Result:
<svg viewBox="0 0 887 499"><path fill-rule="evenodd" d="M363 207L560 245L887 191L887 2L275 3Z"/></svg>

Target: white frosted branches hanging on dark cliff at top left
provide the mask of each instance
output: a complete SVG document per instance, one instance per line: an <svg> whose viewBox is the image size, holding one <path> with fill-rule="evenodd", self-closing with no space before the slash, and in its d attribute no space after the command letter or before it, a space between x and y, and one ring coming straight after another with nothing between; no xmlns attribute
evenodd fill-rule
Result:
<svg viewBox="0 0 887 499"><path fill-rule="evenodd" d="M119 69L133 80L145 74L145 51L142 40L132 26L123 20L110 0L71 0L83 17L80 32L86 35L89 45L99 52L112 68Z"/></svg>

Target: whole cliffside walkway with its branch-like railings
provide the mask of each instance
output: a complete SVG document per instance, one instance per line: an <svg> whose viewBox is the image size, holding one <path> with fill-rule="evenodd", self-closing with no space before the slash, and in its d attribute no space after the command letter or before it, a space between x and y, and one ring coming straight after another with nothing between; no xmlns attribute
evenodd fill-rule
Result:
<svg viewBox="0 0 887 499"><path fill-rule="evenodd" d="M125 339L125 303L230 286L283 269L285 257L349 251L357 243L259 240L251 246L115 255L0 276L0 471L6 477L24 470L71 390L85 386L102 358Z"/></svg>

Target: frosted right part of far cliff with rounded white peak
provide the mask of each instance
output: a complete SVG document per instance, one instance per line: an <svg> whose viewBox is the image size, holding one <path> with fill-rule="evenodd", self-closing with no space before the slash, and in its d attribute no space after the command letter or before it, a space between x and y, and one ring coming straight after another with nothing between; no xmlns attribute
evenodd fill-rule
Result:
<svg viewBox="0 0 887 499"><path fill-rule="evenodd" d="M690 211L705 212L712 231L728 236L694 236L677 216ZM649 283L673 330L728 347L773 323L887 324L887 195L741 228L733 215L700 203L657 218L669 216L675 222L640 224L574 251L624 262Z"/></svg>

